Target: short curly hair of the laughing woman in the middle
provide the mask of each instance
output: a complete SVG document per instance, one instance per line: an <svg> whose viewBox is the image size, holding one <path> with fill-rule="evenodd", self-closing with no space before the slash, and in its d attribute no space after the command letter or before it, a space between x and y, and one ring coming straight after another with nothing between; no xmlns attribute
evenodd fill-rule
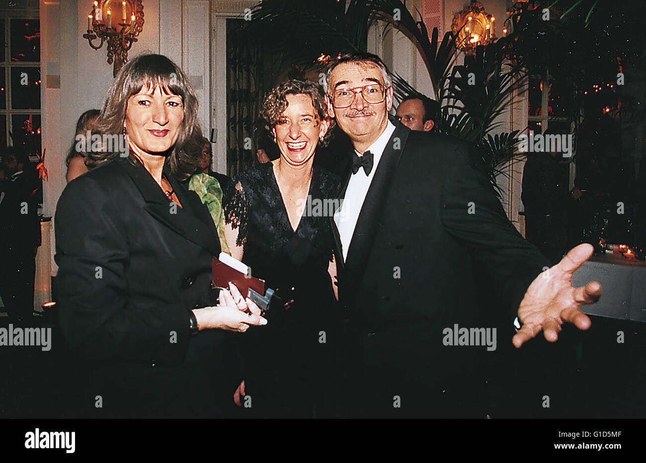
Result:
<svg viewBox="0 0 646 463"><path fill-rule="evenodd" d="M271 130L274 128L276 123L278 123L280 115L282 115L284 110L286 110L287 95L309 96L312 100L312 106L314 107L317 121L320 122L325 119L329 119L327 104L321 86L317 83L297 81L296 79L293 79L274 87L273 90L267 94L267 97L262 104L260 117L264 119L265 128L268 132L271 133ZM324 135L323 140L319 142L321 146L326 146L328 144L329 138L332 135L331 129L333 125L334 119L331 119L328 132Z"/></svg>

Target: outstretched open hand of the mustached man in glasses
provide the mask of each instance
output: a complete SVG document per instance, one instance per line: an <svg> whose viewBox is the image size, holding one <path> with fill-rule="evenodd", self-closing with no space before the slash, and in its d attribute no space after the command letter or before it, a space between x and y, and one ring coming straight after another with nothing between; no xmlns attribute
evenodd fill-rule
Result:
<svg viewBox="0 0 646 463"><path fill-rule="evenodd" d="M590 258L592 251L591 244L579 244L561 262L532 281L518 308L518 319L523 326L512 338L514 346L519 348L540 331L549 342L555 342L563 322L570 322L579 330L590 328L590 319L579 306L596 302L601 295L601 284L591 281L574 288L572 273Z"/></svg>

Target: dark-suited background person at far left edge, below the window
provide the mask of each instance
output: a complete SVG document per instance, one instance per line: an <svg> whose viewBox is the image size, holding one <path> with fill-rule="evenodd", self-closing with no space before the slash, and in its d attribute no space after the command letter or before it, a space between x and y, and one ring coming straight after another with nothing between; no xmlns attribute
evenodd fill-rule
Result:
<svg viewBox="0 0 646 463"><path fill-rule="evenodd" d="M28 324L34 311L36 252L41 245L37 178L29 156L9 146L3 155L0 187L0 297L8 321Z"/></svg>

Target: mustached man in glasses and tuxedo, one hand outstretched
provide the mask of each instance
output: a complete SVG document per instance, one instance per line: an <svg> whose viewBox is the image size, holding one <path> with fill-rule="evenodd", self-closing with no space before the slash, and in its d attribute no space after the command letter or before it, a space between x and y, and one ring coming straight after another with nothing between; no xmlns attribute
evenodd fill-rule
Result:
<svg viewBox="0 0 646 463"><path fill-rule="evenodd" d="M516 325L520 347L539 331L555 341L563 322L589 328L579 306L601 286L574 288L570 277L592 246L548 268L506 218L470 146L390 123L393 88L379 57L340 57L324 88L329 116L355 149L331 220L345 367L339 414L484 418L481 360L495 344L463 330L500 332L506 342ZM508 324L497 331L475 304L474 279L485 274L505 301Z"/></svg>

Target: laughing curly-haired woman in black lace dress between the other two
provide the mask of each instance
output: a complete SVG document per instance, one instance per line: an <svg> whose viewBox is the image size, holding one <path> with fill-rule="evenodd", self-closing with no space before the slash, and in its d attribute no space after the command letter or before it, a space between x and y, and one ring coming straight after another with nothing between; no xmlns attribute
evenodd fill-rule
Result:
<svg viewBox="0 0 646 463"><path fill-rule="evenodd" d="M247 395L260 417L321 417L329 409L334 293L329 217L339 188L335 175L313 166L331 121L317 84L288 81L267 97L262 115L280 157L234 177L225 206L233 257L286 299L289 309L245 339ZM251 339L251 340L250 340ZM236 402L240 402L236 397ZM247 405L248 407L248 405Z"/></svg>

